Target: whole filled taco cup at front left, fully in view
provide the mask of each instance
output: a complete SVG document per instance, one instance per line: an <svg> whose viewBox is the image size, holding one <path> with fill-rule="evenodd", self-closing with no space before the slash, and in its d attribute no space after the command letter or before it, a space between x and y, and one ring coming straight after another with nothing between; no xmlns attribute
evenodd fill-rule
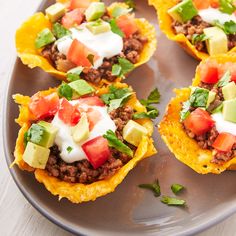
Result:
<svg viewBox="0 0 236 236"><path fill-rule="evenodd" d="M69 98L67 86L32 97L13 96L21 127L13 164L34 172L59 199L93 201L113 192L139 161L156 153L153 124L132 120L146 108L126 84L117 82L79 98L78 93Z"/></svg>

